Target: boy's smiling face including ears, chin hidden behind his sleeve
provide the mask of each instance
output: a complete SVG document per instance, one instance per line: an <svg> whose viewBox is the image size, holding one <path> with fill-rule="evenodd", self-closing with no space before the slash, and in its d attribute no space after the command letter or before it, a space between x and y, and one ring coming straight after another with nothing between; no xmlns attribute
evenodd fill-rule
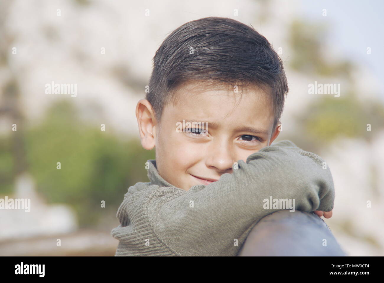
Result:
<svg viewBox="0 0 384 283"><path fill-rule="evenodd" d="M232 173L233 163L246 161L275 140L279 131L272 128L274 114L267 94L260 88L244 89L240 100L240 92L240 88L234 93L232 89L185 84L177 89L176 104L164 108L161 123L149 102L139 101L136 116L141 143L147 150L156 147L156 166L162 178L186 191L209 184ZM180 132L177 122L183 119L185 123L208 122L207 135Z"/></svg>

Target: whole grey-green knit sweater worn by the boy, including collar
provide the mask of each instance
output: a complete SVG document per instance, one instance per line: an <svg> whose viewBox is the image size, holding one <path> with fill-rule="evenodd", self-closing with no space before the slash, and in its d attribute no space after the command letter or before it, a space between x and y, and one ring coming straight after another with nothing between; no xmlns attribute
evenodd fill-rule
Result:
<svg viewBox="0 0 384 283"><path fill-rule="evenodd" d="M115 256L235 256L264 216L265 199L295 199L295 209L331 211L329 167L314 153L283 140L233 165L209 185L185 191L164 180L148 160L151 182L128 188L111 231Z"/></svg>

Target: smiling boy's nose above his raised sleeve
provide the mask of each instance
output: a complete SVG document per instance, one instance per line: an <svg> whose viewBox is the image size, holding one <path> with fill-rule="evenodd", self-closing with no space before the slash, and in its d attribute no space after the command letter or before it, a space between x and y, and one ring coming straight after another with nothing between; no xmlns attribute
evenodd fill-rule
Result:
<svg viewBox="0 0 384 283"><path fill-rule="evenodd" d="M208 168L215 169L218 173L232 173L234 152L232 145L225 139L212 141L207 153L205 164Z"/></svg>

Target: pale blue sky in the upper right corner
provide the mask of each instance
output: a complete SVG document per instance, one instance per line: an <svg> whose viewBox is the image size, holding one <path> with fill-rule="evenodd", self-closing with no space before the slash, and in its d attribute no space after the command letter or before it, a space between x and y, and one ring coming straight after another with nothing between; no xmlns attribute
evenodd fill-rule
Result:
<svg viewBox="0 0 384 283"><path fill-rule="evenodd" d="M303 17L313 21L329 21L329 30L336 49L351 61L364 64L376 74L379 95L384 100L384 1L382 0L301 0ZM327 10L327 16L322 10ZM371 55L367 55L367 47Z"/></svg>

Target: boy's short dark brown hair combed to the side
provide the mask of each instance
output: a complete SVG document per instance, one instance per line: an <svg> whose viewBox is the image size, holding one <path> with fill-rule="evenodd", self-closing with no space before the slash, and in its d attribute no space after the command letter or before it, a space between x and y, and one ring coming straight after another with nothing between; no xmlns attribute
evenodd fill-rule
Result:
<svg viewBox="0 0 384 283"><path fill-rule="evenodd" d="M189 21L170 33L157 49L146 99L158 121L164 106L177 100L177 87L191 80L268 87L274 128L288 92L283 62L272 45L253 27L231 18Z"/></svg>

